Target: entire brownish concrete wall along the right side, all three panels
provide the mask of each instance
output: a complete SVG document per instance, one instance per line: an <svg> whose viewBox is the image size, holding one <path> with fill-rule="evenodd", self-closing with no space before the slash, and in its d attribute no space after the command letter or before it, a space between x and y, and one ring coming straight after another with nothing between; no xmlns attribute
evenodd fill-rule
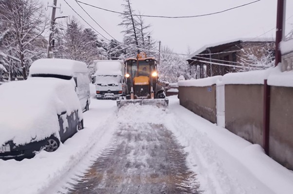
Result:
<svg viewBox="0 0 293 194"><path fill-rule="evenodd" d="M180 104L216 123L216 86L179 87ZM293 87L271 86L269 156L293 170ZM263 146L263 85L225 85L225 128Z"/></svg>

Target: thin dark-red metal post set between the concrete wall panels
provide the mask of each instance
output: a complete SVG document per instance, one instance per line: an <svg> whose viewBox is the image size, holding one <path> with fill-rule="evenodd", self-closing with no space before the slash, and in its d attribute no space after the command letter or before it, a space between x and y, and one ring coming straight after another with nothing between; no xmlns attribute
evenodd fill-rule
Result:
<svg viewBox="0 0 293 194"><path fill-rule="evenodd" d="M264 80L263 88L263 148L269 155L271 87L267 80Z"/></svg>

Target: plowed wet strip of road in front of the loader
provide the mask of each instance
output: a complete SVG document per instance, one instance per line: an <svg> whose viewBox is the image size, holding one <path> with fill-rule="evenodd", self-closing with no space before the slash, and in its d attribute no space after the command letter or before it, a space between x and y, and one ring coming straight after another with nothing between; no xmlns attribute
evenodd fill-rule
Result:
<svg viewBox="0 0 293 194"><path fill-rule="evenodd" d="M186 154L171 131L156 124L120 124L72 194L198 194Z"/></svg>

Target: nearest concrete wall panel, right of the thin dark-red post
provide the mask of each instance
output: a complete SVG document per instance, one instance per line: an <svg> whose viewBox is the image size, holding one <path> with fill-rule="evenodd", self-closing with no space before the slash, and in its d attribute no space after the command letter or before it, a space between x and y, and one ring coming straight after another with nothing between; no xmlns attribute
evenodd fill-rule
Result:
<svg viewBox="0 0 293 194"><path fill-rule="evenodd" d="M271 86L269 155L293 169L293 88Z"/></svg>

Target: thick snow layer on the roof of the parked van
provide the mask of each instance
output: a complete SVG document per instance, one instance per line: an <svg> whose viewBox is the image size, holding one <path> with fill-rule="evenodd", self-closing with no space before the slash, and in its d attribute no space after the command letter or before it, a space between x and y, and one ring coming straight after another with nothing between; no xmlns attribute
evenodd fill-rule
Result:
<svg viewBox="0 0 293 194"><path fill-rule="evenodd" d="M87 65L70 59L38 59L30 67L30 75L56 74L73 76L74 72L87 73Z"/></svg>

